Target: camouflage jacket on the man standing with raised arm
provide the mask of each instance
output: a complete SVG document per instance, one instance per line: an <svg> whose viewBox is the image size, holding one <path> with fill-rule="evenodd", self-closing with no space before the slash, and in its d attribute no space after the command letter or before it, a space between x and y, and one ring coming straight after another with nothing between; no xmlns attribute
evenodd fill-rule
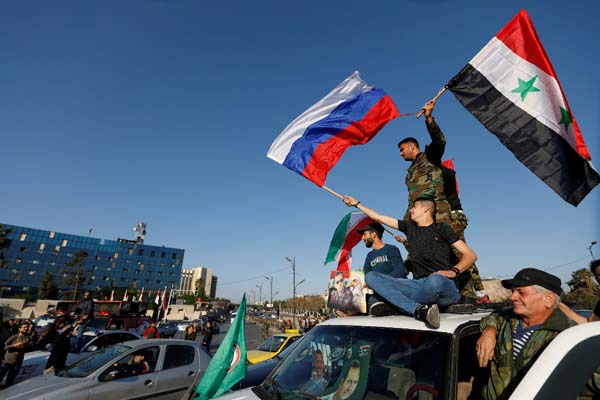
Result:
<svg viewBox="0 0 600 400"><path fill-rule="evenodd" d="M408 208L404 220L410 220L409 210L415 200L421 196L435 199L435 222L450 224L450 204L444 193L444 177L442 175L442 155L446 149L446 138L435 120L427 124L431 143L425 151L419 153L406 173L408 189Z"/></svg>

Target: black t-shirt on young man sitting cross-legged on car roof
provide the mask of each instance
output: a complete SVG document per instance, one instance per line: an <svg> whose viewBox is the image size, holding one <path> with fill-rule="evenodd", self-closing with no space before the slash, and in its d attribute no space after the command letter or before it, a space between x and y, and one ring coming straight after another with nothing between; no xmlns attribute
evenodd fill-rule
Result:
<svg viewBox="0 0 600 400"><path fill-rule="evenodd" d="M415 279L429 274L449 270L458 259L452 244L460 240L452 227L444 222L429 226L418 226L413 221L398 220L398 229L406 234L410 245L410 261Z"/></svg>

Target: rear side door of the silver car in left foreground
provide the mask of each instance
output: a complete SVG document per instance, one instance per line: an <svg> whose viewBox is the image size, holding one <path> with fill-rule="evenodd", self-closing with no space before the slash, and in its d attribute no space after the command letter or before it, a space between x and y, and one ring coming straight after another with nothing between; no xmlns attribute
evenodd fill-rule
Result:
<svg viewBox="0 0 600 400"><path fill-rule="evenodd" d="M167 345L162 370L156 385L156 398L180 399L194 383L200 370L198 347L187 344Z"/></svg>

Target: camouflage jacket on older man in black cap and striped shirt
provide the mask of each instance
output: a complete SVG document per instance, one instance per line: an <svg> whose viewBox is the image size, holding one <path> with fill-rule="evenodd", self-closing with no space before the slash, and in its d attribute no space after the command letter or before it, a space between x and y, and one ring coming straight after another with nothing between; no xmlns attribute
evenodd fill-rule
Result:
<svg viewBox="0 0 600 400"><path fill-rule="evenodd" d="M575 325L562 311L555 309L542 326L536 330L516 360L513 360L513 332L519 322L510 311L495 312L481 320L481 331L493 326L498 331L496 348L491 362L490 377L483 387L484 399L507 399L519 384L529 367L544 348L563 330Z"/></svg>

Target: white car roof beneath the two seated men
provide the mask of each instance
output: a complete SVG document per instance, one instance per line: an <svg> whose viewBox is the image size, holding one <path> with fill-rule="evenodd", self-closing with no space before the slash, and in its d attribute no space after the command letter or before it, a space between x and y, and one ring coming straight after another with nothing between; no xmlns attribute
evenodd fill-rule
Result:
<svg viewBox="0 0 600 400"><path fill-rule="evenodd" d="M470 314L440 313L439 329L431 329L422 321L417 321L412 316L392 315L388 317L374 317L372 315L361 315L344 318L333 318L321 322L319 325L340 326L365 326L376 328L402 328L414 330L430 330L434 332L454 333L456 328L469 321L479 321L490 314L490 310L476 310Z"/></svg>

